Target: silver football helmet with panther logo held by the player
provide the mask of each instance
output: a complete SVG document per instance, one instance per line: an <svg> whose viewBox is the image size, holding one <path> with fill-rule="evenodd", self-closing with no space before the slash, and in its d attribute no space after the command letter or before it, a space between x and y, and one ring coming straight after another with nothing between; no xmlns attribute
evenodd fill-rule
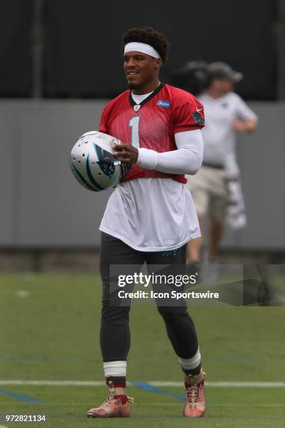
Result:
<svg viewBox="0 0 285 428"><path fill-rule="evenodd" d="M116 187L124 180L130 165L122 164L113 154L118 138L98 131L80 136L71 150L71 171L80 185L94 192Z"/></svg>

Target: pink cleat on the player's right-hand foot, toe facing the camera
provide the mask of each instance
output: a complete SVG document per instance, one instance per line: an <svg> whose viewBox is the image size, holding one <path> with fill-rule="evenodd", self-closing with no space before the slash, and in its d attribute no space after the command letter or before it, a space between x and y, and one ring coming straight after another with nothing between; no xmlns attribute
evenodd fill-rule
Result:
<svg viewBox="0 0 285 428"><path fill-rule="evenodd" d="M197 376L185 376L186 401L183 415L187 418L203 418L206 411L205 380L202 370Z"/></svg>

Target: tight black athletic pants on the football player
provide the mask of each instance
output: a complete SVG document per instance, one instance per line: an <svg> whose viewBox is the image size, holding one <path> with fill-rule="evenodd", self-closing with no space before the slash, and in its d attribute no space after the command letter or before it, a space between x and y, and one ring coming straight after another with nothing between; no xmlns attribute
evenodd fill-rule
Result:
<svg viewBox="0 0 285 428"><path fill-rule="evenodd" d="M129 306L110 305L110 264L185 264L186 245L174 251L141 252L134 250L113 236L101 234L100 272L103 283L100 343L103 361L126 361L131 344ZM147 311L147 308L146 308ZM198 350L193 321L182 306L158 306L168 338L178 357L188 359Z"/></svg>

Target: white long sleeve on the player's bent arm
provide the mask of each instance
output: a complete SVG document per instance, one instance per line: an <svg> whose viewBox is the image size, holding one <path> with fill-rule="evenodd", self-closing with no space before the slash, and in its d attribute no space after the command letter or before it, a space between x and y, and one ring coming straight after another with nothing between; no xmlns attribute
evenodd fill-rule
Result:
<svg viewBox="0 0 285 428"><path fill-rule="evenodd" d="M200 129L175 134L177 150L158 153L138 149L138 166L170 174L196 174L203 160L203 136Z"/></svg>

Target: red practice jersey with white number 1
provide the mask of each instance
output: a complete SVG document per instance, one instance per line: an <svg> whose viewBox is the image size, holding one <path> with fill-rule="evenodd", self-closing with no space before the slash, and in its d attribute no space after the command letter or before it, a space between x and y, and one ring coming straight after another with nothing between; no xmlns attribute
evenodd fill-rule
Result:
<svg viewBox="0 0 285 428"><path fill-rule="evenodd" d="M156 152L177 150L174 134L204 126L203 105L192 94L161 83L140 104L127 90L105 106L100 131L119 138L124 144ZM168 174L131 166L124 181L135 178L173 178L187 183L182 174Z"/></svg>

